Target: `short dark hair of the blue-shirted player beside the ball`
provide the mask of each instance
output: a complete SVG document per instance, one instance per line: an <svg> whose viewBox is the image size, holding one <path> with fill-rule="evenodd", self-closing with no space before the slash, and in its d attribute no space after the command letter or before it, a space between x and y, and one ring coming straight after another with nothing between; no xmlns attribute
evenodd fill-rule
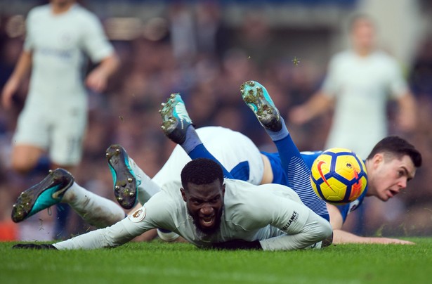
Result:
<svg viewBox="0 0 432 284"><path fill-rule="evenodd" d="M367 156L367 160L372 159L377 153L395 155L401 158L408 155L415 167L421 167L421 154L419 150L414 148L408 141L399 136L387 136L375 145L372 152Z"/></svg>

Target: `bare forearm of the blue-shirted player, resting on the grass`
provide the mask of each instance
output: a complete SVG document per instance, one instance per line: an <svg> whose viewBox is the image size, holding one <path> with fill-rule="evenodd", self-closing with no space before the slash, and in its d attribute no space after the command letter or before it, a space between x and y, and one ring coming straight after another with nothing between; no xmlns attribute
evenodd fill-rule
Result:
<svg viewBox="0 0 432 284"><path fill-rule="evenodd" d="M409 240L398 240L395 238L378 238L378 237L362 237L347 231L343 231L343 219L339 210L334 205L327 204L330 214L330 224L333 228L333 243L335 245L343 243L375 243L375 244L398 244L398 245L414 245L415 243Z"/></svg>

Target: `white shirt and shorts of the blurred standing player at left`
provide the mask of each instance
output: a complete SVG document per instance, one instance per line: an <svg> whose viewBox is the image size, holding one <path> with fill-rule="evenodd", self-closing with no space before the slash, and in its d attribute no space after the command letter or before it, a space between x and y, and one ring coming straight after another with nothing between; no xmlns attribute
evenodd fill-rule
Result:
<svg viewBox="0 0 432 284"><path fill-rule="evenodd" d="M114 49L96 15L78 4L60 15L49 4L33 8L24 48L32 52L32 76L13 143L49 150L55 164L76 165L87 122L84 53L99 62Z"/></svg>

